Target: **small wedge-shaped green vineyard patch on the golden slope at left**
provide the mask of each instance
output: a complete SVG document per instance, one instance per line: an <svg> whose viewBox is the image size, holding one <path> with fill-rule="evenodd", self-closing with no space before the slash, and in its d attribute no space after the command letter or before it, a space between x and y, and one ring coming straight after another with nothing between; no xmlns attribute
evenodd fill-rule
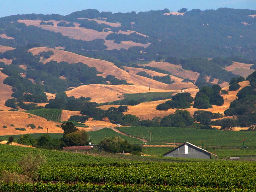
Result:
<svg viewBox="0 0 256 192"><path fill-rule="evenodd" d="M56 122L61 122L61 112L61 109L36 109L26 111L26 113L34 114Z"/></svg>

